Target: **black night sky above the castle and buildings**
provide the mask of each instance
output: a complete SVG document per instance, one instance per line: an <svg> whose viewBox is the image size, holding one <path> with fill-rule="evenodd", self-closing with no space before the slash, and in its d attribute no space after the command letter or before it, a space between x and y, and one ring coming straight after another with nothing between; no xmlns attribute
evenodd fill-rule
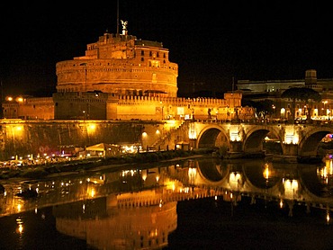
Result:
<svg viewBox="0 0 333 250"><path fill-rule="evenodd" d="M117 0L33 2L1 10L4 94L55 92L58 61L84 56L86 44L117 31ZM310 68L333 78L329 1L119 0L119 17L130 35L163 42L180 88L225 92L232 79L303 79Z"/></svg>

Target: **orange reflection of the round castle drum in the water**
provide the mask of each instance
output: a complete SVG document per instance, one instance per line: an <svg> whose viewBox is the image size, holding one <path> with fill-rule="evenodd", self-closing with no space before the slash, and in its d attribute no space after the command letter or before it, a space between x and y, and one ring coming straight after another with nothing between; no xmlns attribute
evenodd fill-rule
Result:
<svg viewBox="0 0 333 250"><path fill-rule="evenodd" d="M142 249L167 246L177 225L176 201L163 205L119 207L117 200L146 200L150 192L111 195L91 201L56 206L59 232L86 240L97 249ZM135 200L135 201L134 201ZM161 201L162 202L162 201Z"/></svg>

